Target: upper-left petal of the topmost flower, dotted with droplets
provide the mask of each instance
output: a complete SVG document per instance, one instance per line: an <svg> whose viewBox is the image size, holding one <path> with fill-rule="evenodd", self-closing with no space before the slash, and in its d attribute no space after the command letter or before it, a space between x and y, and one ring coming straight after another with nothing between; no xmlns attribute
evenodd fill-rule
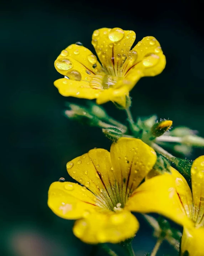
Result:
<svg viewBox="0 0 204 256"><path fill-rule="evenodd" d="M97 61L97 57L89 49L83 47L82 45L69 45L65 50L62 50L61 54L57 57L57 59L61 58L71 59L73 62L73 68L78 69L80 72L82 71L82 68L88 70L92 74L103 72L101 64ZM56 64L55 68L58 72L60 72ZM87 74L85 74L85 76L87 76Z"/></svg>

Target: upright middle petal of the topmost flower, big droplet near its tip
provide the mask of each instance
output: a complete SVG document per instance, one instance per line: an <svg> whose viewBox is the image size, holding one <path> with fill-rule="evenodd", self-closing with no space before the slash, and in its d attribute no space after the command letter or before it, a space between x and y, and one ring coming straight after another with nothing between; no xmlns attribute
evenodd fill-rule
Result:
<svg viewBox="0 0 204 256"><path fill-rule="evenodd" d="M101 28L93 32L92 44L109 75L122 76L123 63L135 38L134 31L121 28Z"/></svg>

